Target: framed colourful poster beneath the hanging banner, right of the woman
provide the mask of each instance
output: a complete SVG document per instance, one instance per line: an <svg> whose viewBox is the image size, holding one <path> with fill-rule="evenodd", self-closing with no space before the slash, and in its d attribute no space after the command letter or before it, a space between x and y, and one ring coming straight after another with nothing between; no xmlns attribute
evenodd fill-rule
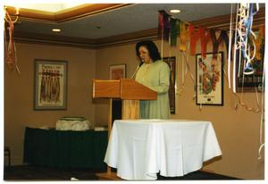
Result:
<svg viewBox="0 0 268 184"><path fill-rule="evenodd" d="M223 52L196 54L197 105L223 105Z"/></svg>

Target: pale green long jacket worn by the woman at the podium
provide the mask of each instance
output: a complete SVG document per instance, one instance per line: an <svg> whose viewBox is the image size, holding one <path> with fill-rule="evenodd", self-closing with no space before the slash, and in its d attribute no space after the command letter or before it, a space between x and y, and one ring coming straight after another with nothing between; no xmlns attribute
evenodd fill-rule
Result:
<svg viewBox="0 0 268 184"><path fill-rule="evenodd" d="M162 60L143 63L136 73L138 83L157 92L157 100L140 100L140 119L170 119L170 67Z"/></svg>

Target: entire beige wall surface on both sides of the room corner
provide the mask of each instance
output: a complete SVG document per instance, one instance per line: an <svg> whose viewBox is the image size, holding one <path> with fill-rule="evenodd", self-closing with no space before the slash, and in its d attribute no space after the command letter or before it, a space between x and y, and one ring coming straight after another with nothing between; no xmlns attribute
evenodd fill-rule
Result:
<svg viewBox="0 0 268 184"><path fill-rule="evenodd" d="M161 42L157 41L161 49ZM4 143L12 148L13 163L21 163L25 126L54 126L63 115L85 116L96 126L107 124L107 100L92 100L91 79L109 79L109 65L127 64L130 78L138 66L135 44L98 49L80 49L61 46L18 44L21 76L5 69L4 75ZM211 52L208 48L207 52ZM197 47L197 53L199 52ZM185 78L181 96L181 54L176 48L163 45L163 56L177 56L176 114L172 119L212 121L222 148L222 158L205 166L205 170L241 179L264 179L264 159L257 160L260 114L250 113L244 107L234 109L237 98L224 80L224 105L205 106L199 110L190 75ZM226 54L225 54L226 57ZM67 111L33 111L33 60L35 58L68 61ZM190 71L195 77L195 56L190 56ZM226 58L224 60L226 63ZM95 70L96 69L96 70ZM226 66L225 66L226 69ZM254 93L244 94L245 102L256 107ZM247 100L246 100L247 99Z"/></svg>

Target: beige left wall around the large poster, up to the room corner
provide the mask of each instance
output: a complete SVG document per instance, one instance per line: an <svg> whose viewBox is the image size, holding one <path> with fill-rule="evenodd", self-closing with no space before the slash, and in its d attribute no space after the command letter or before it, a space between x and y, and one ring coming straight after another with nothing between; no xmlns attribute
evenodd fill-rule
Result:
<svg viewBox="0 0 268 184"><path fill-rule="evenodd" d="M4 69L4 145L11 148L12 164L21 164L25 126L55 127L55 122L63 116L84 116L95 121L90 96L96 72L96 51L33 44L16 46L21 75ZM68 61L67 110L33 110L34 59Z"/></svg>

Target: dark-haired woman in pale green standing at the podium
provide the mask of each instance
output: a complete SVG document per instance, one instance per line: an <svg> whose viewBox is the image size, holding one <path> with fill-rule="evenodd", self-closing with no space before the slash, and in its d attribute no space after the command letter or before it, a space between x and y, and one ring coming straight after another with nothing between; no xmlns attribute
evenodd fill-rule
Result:
<svg viewBox="0 0 268 184"><path fill-rule="evenodd" d="M140 41L136 45L136 54L142 63L136 73L138 83L157 92L157 100L140 100L139 118L169 119L170 67L161 60L155 43L150 40Z"/></svg>

